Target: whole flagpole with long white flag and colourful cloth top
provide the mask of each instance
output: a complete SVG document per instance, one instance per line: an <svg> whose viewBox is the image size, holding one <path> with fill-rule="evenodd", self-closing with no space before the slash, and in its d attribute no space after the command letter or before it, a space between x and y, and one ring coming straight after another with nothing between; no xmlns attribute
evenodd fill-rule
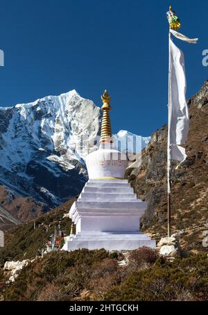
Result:
<svg viewBox="0 0 208 315"><path fill-rule="evenodd" d="M169 23L169 65L168 65L168 140L167 140L167 204L168 204L168 237L171 236L171 159L177 161L184 161L186 159L186 154L184 148L180 147L187 140L189 132L189 108L187 106L186 100L186 77L184 73L184 57L182 51L178 49L175 45L172 47L171 34L176 38L183 40L184 42L191 42L196 44L198 38L187 38L187 36L177 33L177 29L180 29L180 19L172 10L172 6L169 6L169 10L166 13ZM175 51L172 51L173 50ZM173 63L173 56L178 54L180 59L175 60ZM174 57L175 58L175 57ZM178 58L176 58L178 59ZM175 64L175 65L174 65ZM172 72L172 67L177 69L177 71ZM172 82L173 80L173 82ZM173 87L172 83L177 81L177 87ZM180 97L175 97L174 104L172 104L172 92L176 93L175 96L180 95ZM180 98L180 99L179 99ZM178 111L183 113L182 117L179 117ZM172 117L176 116L176 117ZM182 122L183 121L183 122ZM177 139L178 136L178 139ZM177 153L171 152L172 146Z"/></svg>

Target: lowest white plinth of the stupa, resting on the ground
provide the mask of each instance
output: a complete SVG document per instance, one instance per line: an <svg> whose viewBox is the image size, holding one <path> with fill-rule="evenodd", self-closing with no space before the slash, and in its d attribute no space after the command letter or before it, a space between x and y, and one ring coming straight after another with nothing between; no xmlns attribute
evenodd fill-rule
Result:
<svg viewBox="0 0 208 315"><path fill-rule="evenodd" d="M141 247L155 248L156 243L144 233L98 233L83 234L78 233L72 238L67 236L67 241L62 250L78 250L87 248L97 250L136 250Z"/></svg>

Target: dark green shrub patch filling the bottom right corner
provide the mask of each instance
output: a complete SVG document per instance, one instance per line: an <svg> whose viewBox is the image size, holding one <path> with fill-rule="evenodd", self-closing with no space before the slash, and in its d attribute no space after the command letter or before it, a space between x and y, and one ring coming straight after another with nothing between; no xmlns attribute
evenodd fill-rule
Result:
<svg viewBox="0 0 208 315"><path fill-rule="evenodd" d="M186 292L186 294L184 294ZM173 263L157 259L150 268L132 273L114 286L105 300L208 300L208 259L200 254Z"/></svg>

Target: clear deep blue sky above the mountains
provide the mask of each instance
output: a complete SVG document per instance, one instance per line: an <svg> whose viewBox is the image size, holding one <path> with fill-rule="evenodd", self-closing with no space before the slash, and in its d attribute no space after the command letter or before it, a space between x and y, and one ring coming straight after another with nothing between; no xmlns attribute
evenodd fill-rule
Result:
<svg viewBox="0 0 208 315"><path fill-rule="evenodd" d="M76 89L101 106L112 95L112 131L148 136L167 120L168 22L172 4L184 51L187 97L208 78L208 2L138 0L1 0L0 106Z"/></svg>

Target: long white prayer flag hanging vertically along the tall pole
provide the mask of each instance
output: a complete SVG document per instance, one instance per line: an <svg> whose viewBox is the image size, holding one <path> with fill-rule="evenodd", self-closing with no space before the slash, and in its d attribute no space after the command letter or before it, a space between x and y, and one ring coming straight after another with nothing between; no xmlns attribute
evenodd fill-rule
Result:
<svg viewBox="0 0 208 315"><path fill-rule="evenodd" d="M170 39L170 99L168 106L169 159L184 161L187 157L183 147L189 133L189 109L186 100L186 76L184 54Z"/></svg>

